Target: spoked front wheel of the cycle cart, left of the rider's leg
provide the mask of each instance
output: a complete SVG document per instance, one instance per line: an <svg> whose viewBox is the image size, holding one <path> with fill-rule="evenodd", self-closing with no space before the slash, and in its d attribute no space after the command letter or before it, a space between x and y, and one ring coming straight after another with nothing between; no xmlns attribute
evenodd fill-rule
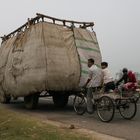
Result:
<svg viewBox="0 0 140 140"><path fill-rule="evenodd" d="M75 95L73 107L78 115L83 115L86 112L87 104L84 94Z"/></svg>

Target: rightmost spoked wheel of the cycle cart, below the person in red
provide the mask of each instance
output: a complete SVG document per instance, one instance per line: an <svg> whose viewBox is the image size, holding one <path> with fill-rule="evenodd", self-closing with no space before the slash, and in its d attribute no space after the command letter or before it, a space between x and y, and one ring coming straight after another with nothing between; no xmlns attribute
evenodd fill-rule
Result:
<svg viewBox="0 0 140 140"><path fill-rule="evenodd" d="M119 101L119 112L124 119L132 119L135 117L137 112L137 105L134 100L120 100Z"/></svg>

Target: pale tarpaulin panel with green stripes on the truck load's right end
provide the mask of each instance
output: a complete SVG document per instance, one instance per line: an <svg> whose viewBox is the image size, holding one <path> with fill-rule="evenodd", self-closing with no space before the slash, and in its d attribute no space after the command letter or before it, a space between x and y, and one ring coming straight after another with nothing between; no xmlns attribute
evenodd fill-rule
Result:
<svg viewBox="0 0 140 140"><path fill-rule="evenodd" d="M100 66L101 53L95 32L90 32L88 30L78 28L74 29L74 37L78 54L80 57L80 86L82 86L83 84L85 84L88 78L87 60L89 58L93 58L95 60L95 64L97 66Z"/></svg>

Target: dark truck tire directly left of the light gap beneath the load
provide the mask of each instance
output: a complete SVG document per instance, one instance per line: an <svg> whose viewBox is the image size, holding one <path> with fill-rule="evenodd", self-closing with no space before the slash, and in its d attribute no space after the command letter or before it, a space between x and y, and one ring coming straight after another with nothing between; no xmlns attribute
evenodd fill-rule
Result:
<svg viewBox="0 0 140 140"><path fill-rule="evenodd" d="M35 109L37 108L39 100L38 94L31 94L24 97L24 104L27 109Z"/></svg>

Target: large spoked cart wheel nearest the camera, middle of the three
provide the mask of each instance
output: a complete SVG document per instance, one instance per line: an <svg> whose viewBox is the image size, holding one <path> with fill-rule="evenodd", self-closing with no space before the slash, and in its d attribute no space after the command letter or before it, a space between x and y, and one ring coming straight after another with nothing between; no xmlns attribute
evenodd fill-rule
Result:
<svg viewBox="0 0 140 140"><path fill-rule="evenodd" d="M115 106L112 99L108 96L102 96L97 102L97 115L103 122L110 122L115 113Z"/></svg>

